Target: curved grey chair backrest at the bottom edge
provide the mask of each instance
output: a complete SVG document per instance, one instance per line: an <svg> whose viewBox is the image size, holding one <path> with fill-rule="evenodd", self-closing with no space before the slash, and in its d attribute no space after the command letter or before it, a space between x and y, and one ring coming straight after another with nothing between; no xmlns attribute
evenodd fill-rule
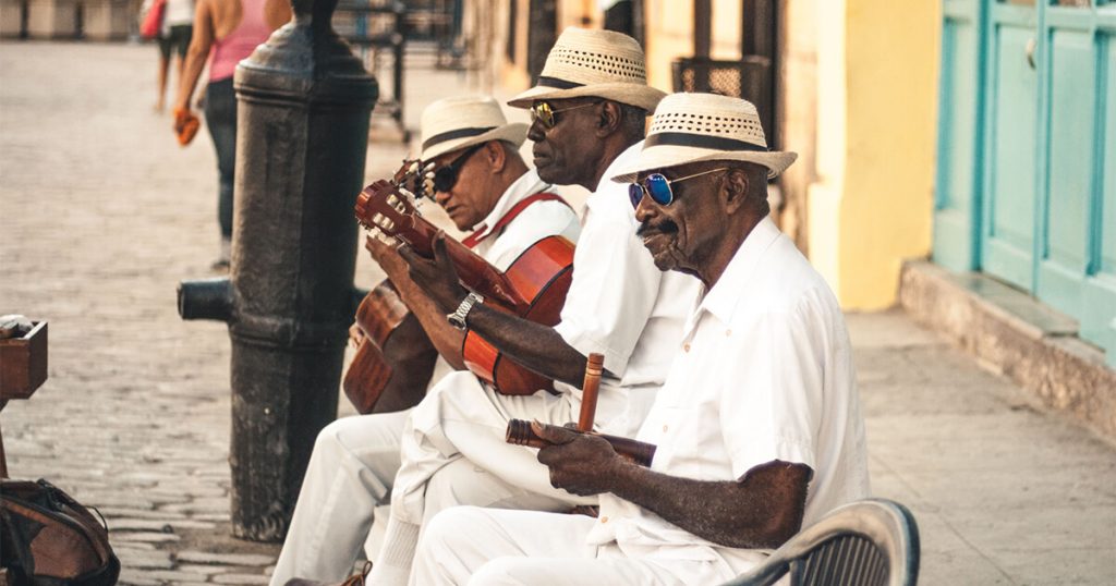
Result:
<svg viewBox="0 0 1116 586"><path fill-rule="evenodd" d="M897 502L852 502L799 531L763 564L723 586L764 586L788 571L795 586L914 586L918 526Z"/></svg>

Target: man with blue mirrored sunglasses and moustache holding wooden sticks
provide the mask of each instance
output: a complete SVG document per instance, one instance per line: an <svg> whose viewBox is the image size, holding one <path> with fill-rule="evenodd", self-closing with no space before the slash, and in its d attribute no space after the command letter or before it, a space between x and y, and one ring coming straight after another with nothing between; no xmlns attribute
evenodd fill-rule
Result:
<svg viewBox="0 0 1116 586"><path fill-rule="evenodd" d="M716 584L802 526L868 496L864 423L844 317L768 218L769 152L754 106L667 96L634 182L655 263L705 286L636 438L651 468L608 442L536 422L550 480L599 494L599 518L460 507L435 517L416 583Z"/></svg>

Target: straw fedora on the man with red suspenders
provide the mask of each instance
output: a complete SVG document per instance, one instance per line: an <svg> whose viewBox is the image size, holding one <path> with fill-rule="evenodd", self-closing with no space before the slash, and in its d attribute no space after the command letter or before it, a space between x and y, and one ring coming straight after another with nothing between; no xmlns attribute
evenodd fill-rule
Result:
<svg viewBox="0 0 1116 586"><path fill-rule="evenodd" d="M420 158L439 155L489 141L508 141L519 147L527 140L527 125L508 124L500 104L489 96L450 97L434 102L422 112Z"/></svg>

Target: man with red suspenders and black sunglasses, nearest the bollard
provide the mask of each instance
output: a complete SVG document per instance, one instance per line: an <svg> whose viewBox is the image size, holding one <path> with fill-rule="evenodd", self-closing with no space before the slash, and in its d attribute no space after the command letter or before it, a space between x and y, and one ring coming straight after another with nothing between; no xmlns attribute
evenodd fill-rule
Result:
<svg viewBox="0 0 1116 586"><path fill-rule="evenodd" d="M430 165L429 194L459 230L470 232L463 243L501 270L546 237L576 241L580 231L569 205L520 156L526 129L525 124L508 124L490 97L435 102L421 121L420 156ZM368 237L366 247L442 358L453 368L464 368L464 333L451 326L445 311L411 281L394 247L374 237ZM295 576L302 578L300 583L337 582L352 571L375 509L387 501L400 467L407 413L344 417L318 434L271 584L286 584ZM432 512L458 503L456 499L510 506L517 494L465 463L448 467L441 480L427 489Z"/></svg>

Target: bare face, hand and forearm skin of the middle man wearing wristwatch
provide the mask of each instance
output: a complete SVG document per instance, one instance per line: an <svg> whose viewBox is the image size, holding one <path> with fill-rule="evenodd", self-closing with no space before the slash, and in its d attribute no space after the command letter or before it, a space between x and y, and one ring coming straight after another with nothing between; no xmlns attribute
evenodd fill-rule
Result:
<svg viewBox="0 0 1116 586"><path fill-rule="evenodd" d="M632 119L631 111L615 102L600 98L547 102L555 111L593 104L558 112L552 128L535 121L528 129L527 137L535 142L535 166L549 183L577 184L595 191L608 165L643 138L643 116ZM434 239L433 260L420 257L408 247L401 247L400 254L411 265L411 278L449 314L468 291L458 282L444 239L442 233ZM469 313L469 329L543 376L575 386L581 384L586 357L549 326L480 304Z"/></svg>

